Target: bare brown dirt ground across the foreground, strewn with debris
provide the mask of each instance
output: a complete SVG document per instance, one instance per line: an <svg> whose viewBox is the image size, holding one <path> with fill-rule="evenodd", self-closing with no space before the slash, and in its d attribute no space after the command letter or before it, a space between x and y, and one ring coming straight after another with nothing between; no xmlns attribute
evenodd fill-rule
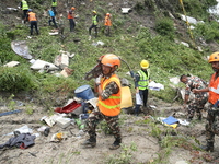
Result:
<svg viewBox="0 0 219 164"><path fill-rule="evenodd" d="M5 143L10 138L14 137L13 132L15 129L23 126L27 126L33 130L33 133L39 134L35 139L35 144L27 149L0 149L0 163L80 163L80 164L102 164L102 163L122 163L125 160L129 162L124 163L150 163L155 162L155 159L162 155L168 157L164 159L162 163L168 164L186 164L186 163L217 163L218 151L218 138L216 138L215 152L207 153L203 151L196 151L185 147L173 147L171 148L170 154L165 154L164 148L161 147L160 141L165 136L161 134L159 138L152 136L152 130L150 124L146 124L145 115L134 116L127 114L126 109L123 109L120 115L122 120L122 134L123 134L123 147L117 150L110 150L110 145L114 142L114 138L111 134L106 134L103 128L97 129L97 144L95 148L83 148L81 142L83 142L88 134L82 132L79 127L74 124L68 126L67 128L61 128L59 125L55 124L50 127L50 132L48 137L45 137L37 129L46 124L41 121L41 118L45 115L45 110L42 107L33 106L34 113L32 115L27 114L26 106L27 103L18 103L19 106L15 109L23 109L19 114L12 114L8 116L0 117L0 144ZM155 114L153 118L157 117L169 117L174 116L177 119L185 119L183 116L183 109L178 104L168 104L159 99L150 98L149 105L154 106ZM0 112L8 110L5 106L1 106ZM49 116L49 114L47 115ZM189 126L180 125L175 129L166 127L161 122L157 122L157 127L160 130L166 128L175 131L177 137L185 138L198 147L198 142L205 143L205 117L204 113L203 121L197 121L194 119ZM149 122L155 122L152 118ZM51 137L55 133L64 132L66 138L60 142L51 142ZM173 136L174 132L173 132ZM195 140L191 140L194 137ZM132 149L136 148L136 149ZM207 156L207 157L206 157ZM210 162L207 162L207 160ZM210 159L210 160L209 160Z"/></svg>

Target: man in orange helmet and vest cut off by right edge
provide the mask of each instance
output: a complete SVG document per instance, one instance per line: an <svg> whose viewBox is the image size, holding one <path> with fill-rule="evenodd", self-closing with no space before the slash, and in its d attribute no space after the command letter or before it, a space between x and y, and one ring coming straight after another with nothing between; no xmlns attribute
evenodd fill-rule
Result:
<svg viewBox="0 0 219 164"><path fill-rule="evenodd" d="M208 102L210 106L208 108L207 124L206 124L206 145L200 148L205 151L214 151L215 134L219 136L219 51L210 55L209 63L211 63L214 74L211 75L208 87L197 90L194 89L194 93L208 92Z"/></svg>

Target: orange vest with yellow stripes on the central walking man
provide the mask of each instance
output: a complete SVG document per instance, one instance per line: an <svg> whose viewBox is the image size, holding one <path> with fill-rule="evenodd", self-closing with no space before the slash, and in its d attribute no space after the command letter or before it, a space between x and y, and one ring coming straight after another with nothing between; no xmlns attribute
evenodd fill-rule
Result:
<svg viewBox="0 0 219 164"><path fill-rule="evenodd" d="M101 80L101 89L104 90L106 85L111 82L116 82L119 87L117 94L112 94L107 99L101 99L99 96L99 109L105 116L117 116L120 113L120 81L116 74L112 75L110 79Z"/></svg>

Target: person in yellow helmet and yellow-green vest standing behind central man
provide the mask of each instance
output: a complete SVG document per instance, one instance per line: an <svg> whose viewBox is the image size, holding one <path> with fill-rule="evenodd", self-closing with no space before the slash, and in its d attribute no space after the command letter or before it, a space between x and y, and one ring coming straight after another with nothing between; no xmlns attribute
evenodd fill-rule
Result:
<svg viewBox="0 0 219 164"><path fill-rule="evenodd" d="M135 89L136 89L136 107L135 115L138 116L140 113L140 107L142 105L143 112L148 113L147 102L148 102L148 85L150 80L150 72L148 71L149 61L142 60L140 62L141 70L139 70L135 75Z"/></svg>

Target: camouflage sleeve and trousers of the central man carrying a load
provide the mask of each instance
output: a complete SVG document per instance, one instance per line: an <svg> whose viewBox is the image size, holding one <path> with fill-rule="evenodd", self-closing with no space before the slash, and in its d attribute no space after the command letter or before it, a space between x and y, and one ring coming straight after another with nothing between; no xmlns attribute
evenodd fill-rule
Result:
<svg viewBox="0 0 219 164"><path fill-rule="evenodd" d="M102 93L102 97L104 99L107 99L113 93L117 93L118 92L118 86L115 82L111 82L110 84L107 84L107 86L105 87L105 90ZM99 108L96 107L90 115L89 118L87 119L85 122L85 131L88 131L90 138L95 139L96 138L96 126L97 124L105 119L107 122L107 126L111 130L111 132L114 134L115 139L120 140L122 136L120 136L120 129L118 126L118 116L105 116L103 115Z"/></svg>

